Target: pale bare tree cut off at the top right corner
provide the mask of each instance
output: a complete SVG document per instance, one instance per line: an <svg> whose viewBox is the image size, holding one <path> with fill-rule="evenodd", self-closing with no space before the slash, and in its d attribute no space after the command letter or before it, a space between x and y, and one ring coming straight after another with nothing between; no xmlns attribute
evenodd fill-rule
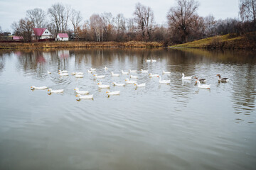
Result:
<svg viewBox="0 0 256 170"><path fill-rule="evenodd" d="M256 0L240 0L239 15L242 22L245 20L256 22Z"/></svg>

